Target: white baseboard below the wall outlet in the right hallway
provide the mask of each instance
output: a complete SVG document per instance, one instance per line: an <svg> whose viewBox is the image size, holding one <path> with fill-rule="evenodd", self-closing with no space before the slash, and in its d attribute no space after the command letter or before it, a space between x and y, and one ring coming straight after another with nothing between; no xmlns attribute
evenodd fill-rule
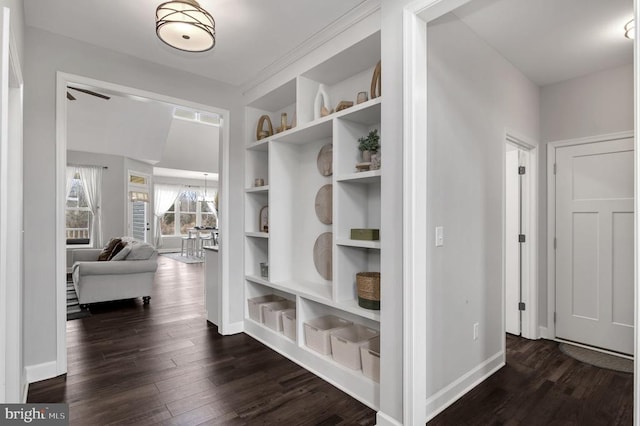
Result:
<svg viewBox="0 0 640 426"><path fill-rule="evenodd" d="M467 373L462 375L460 378L458 378L436 394L427 398L427 418L425 420L425 423L440 414L471 389L475 388L488 377L490 377L493 373L504 367L504 356L504 351L496 353L477 367L469 370Z"/></svg>

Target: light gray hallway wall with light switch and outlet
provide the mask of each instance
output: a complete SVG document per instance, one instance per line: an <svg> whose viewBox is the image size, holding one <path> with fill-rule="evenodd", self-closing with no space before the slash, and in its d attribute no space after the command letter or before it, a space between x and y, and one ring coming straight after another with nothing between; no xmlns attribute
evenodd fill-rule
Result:
<svg viewBox="0 0 640 426"><path fill-rule="evenodd" d="M426 256L429 411L504 361L505 128L538 140L539 89L451 14L427 43L427 241L444 227Z"/></svg>

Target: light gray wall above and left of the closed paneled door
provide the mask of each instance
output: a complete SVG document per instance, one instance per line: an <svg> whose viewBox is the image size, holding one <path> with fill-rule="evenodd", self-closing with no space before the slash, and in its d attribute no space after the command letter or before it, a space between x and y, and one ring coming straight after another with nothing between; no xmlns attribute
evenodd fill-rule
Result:
<svg viewBox="0 0 640 426"><path fill-rule="evenodd" d="M540 92L540 325L547 327L548 142L633 130L633 65L545 86Z"/></svg>

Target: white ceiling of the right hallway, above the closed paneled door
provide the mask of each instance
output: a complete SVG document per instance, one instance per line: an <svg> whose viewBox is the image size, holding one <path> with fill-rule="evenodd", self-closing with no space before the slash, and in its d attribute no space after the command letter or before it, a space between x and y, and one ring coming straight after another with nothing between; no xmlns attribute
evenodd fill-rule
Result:
<svg viewBox="0 0 640 426"><path fill-rule="evenodd" d="M454 13L539 86L633 61L633 0L474 0Z"/></svg>

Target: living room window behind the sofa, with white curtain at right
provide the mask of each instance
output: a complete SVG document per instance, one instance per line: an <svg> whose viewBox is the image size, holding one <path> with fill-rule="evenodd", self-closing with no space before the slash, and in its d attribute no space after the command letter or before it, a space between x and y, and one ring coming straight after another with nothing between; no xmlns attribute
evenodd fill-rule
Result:
<svg viewBox="0 0 640 426"><path fill-rule="evenodd" d="M66 208L66 235L67 244L91 243L91 220L93 214L87 204L87 197L76 173L71 182L71 189L67 196Z"/></svg>

